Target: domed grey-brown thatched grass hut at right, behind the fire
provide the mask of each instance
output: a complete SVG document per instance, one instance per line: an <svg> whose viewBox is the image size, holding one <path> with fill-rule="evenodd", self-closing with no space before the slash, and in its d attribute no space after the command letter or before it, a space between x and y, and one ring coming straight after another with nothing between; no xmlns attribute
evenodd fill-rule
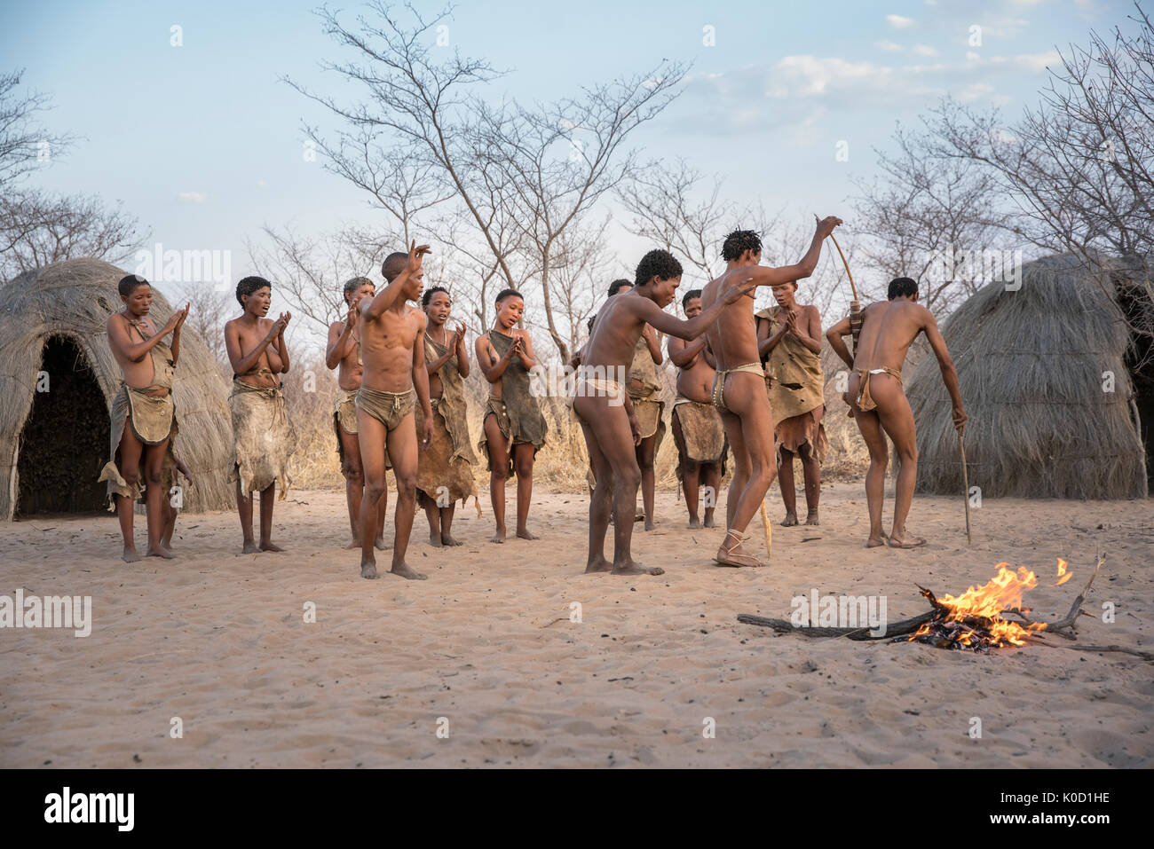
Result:
<svg viewBox="0 0 1154 849"><path fill-rule="evenodd" d="M1115 291L1081 258L1048 256L1022 266L1020 290L987 284L943 324L969 415L969 483L984 497L1147 495L1154 445L1142 444L1139 405L1151 410L1154 399L1134 391L1132 338ZM906 393L917 422L917 488L960 495L958 438L932 355L912 370Z"/></svg>

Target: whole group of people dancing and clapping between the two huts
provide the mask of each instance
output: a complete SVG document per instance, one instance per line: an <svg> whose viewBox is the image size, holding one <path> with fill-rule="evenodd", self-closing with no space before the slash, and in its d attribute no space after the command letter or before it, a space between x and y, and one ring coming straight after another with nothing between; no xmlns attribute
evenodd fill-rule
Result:
<svg viewBox="0 0 1154 849"><path fill-rule="evenodd" d="M669 337L666 350L679 369L670 427L691 527L700 526L703 487L704 525L714 526L714 505L728 454L734 463L726 499L726 535L714 561L726 566L763 565L743 549L744 532L778 473L786 505L782 524L799 523L795 457L802 463L805 524L818 523L819 466L826 448L822 328L817 309L800 305L796 292L797 280L812 273L822 241L838 224L840 219L834 217L819 221L802 260L778 269L760 265L756 233L730 233L721 248L726 271L703 288L685 293L681 299L684 321L664 311L674 301L682 275L681 264L668 251L647 253L632 281L610 285L610 296L590 322L587 343L570 362L577 369L570 401L591 467L587 572L662 572L635 562L630 551L638 488L645 527L653 527L653 460L665 433L665 405L658 398L662 384L657 367L664 361L658 332ZM422 257L428 253L428 246L413 242L407 253L389 255L382 265L385 286L380 292L368 278L349 280L344 285L346 316L329 328L325 365L337 371L334 429L346 480L351 536L346 548L360 548L362 578L379 577L374 551L388 548L383 535L387 469L392 468L397 482L390 571L407 579L425 578L405 562L418 503L428 519L430 544L459 546L452 535L456 503L477 496L472 466L478 460L464 393L471 370L465 326L457 322L450 329L452 302L447 290L424 288ZM754 311L757 286L772 287L775 307ZM120 519L123 559L140 559L133 536L133 503L142 494L148 555L172 557L175 511L165 496L177 484L178 473L190 482L174 451L178 422L172 399L180 332L189 308L177 310L157 330L149 320L152 295L148 281L128 276L119 291L125 308L108 317L107 330L123 383L112 404L111 458L100 480L107 482L110 509ZM901 393L900 367L919 332L927 333L942 362L959 428L965 414L957 375L937 325L929 311L916 305L916 284L912 292L898 295L916 309L896 306L894 298L891 284L890 302L867 308L856 352L848 352L841 340L850 332L847 321L826 337L855 369L847 400L870 449L868 544L912 547L923 541L905 533L916 476L916 445L909 405ZM240 280L237 300L243 311L224 328L233 371L230 480L237 487L242 550L279 551L272 542L276 487L280 484L284 498L297 441L279 378L290 369L284 335L292 316L282 313L276 320L268 317L271 284L260 277ZM422 308L409 306L410 301L420 301ZM493 326L477 338L473 353L489 385L477 449L488 461L496 526L492 541L500 543L507 533L504 496L510 475L517 478L516 534L537 539L527 527L533 461L548 427L531 391L530 373L538 365L532 341L517 328L524 299L519 292L505 290L495 306ZM606 375L625 375L625 380ZM892 378L896 385L877 381L878 375ZM881 529L887 460L883 430L902 460L889 538ZM261 494L258 541L253 532L254 493ZM610 517L615 526L612 562L604 554Z"/></svg>

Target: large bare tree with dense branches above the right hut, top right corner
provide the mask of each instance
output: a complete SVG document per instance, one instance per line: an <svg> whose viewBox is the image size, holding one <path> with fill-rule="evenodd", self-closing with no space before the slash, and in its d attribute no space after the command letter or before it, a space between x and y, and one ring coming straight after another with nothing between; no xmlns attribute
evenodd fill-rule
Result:
<svg viewBox="0 0 1154 849"><path fill-rule="evenodd" d="M1154 24L1134 3L1133 35L1091 32L1061 53L1041 103L1005 126L997 111L944 100L932 128L943 156L987 166L1017 205L1014 227L1047 250L1099 268L1099 253L1130 258L1132 285L1154 299ZM1112 287L1095 275L1103 286ZM1148 307L1131 330L1154 337Z"/></svg>

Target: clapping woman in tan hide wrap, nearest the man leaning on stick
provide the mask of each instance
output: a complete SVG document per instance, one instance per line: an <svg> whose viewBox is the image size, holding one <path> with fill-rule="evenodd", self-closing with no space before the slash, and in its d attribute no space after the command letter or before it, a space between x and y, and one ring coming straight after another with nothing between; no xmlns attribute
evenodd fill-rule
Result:
<svg viewBox="0 0 1154 849"><path fill-rule="evenodd" d="M773 287L777 307L757 313L757 350L769 361L770 410L778 446L778 484L786 505L784 527L797 524L793 461L801 458L805 481L805 524L817 525L825 438L825 375L822 373L822 315L796 300L797 283Z"/></svg>

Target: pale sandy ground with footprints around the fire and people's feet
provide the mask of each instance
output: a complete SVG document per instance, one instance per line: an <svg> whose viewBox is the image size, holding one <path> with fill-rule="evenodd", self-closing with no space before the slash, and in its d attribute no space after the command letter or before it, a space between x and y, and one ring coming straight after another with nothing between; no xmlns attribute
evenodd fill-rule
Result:
<svg viewBox="0 0 1154 849"><path fill-rule="evenodd" d="M279 555L239 555L231 513L182 517L178 561L132 566L111 517L22 521L0 527L0 593L91 595L95 624L0 631L0 766L1148 767L1154 666L1137 658L814 641L735 617L787 617L816 587L885 595L898 619L926 609L915 583L957 594L1001 561L1035 569L1028 601L1061 615L1100 550L1087 606L1116 621L1085 618L1081 640L1151 647L1151 506L987 501L967 548L958 499L917 497L930 544L865 550L862 487L833 484L820 528L778 527L770 568L728 570L710 565L720 532L659 494L634 550L666 574L615 578L582 574L585 497L541 494L537 542L486 542L488 505L470 504L466 544L434 549L419 516L424 583L358 577L337 491L278 504ZM1058 556L1074 577L1050 587Z"/></svg>

